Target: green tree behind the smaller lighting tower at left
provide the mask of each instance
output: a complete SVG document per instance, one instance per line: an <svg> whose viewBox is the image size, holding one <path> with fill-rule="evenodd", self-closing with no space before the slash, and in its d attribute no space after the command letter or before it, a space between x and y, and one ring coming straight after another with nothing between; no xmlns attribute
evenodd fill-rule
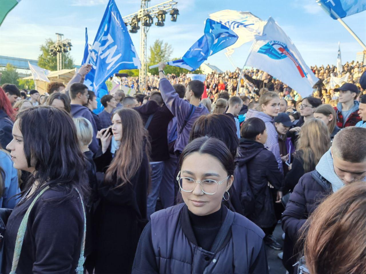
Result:
<svg viewBox="0 0 366 274"><path fill-rule="evenodd" d="M50 71L57 70L57 56L49 54L49 47L55 43L51 38L46 39L44 45L40 46L41 54L38 56L38 66L41 68L49 69ZM71 58L70 53L63 54L64 68L74 68L74 60Z"/></svg>

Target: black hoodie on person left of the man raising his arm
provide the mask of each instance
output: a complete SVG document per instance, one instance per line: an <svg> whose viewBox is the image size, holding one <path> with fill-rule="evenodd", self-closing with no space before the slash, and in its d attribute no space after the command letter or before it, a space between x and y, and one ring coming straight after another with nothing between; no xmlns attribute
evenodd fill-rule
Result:
<svg viewBox="0 0 366 274"><path fill-rule="evenodd" d="M147 119L149 119L149 116L154 114L150 125L147 127L151 143L151 161L158 162L168 160L168 125L174 117L173 114L167 106L164 105L160 107L152 100L142 106L135 107L134 110L137 110L141 115L144 125L146 124Z"/></svg>

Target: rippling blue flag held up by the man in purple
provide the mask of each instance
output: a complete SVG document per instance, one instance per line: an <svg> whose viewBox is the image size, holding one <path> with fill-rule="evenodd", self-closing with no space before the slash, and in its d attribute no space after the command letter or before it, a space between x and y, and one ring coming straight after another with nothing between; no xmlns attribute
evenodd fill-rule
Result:
<svg viewBox="0 0 366 274"><path fill-rule="evenodd" d="M168 65L179 66L194 71L207 60L207 58L238 40L238 35L227 26L212 19L206 20L205 34L188 49L181 60L168 62Z"/></svg>

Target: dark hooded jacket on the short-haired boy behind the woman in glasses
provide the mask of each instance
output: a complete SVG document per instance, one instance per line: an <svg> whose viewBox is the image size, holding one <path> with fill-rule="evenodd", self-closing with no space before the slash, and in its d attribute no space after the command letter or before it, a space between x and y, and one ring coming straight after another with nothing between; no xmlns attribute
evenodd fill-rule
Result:
<svg viewBox="0 0 366 274"><path fill-rule="evenodd" d="M245 138L239 139L238 154L235 159L234 186L244 212L259 227L272 227L277 220L268 182L274 190L278 190L283 181L276 158L261 143ZM250 196L253 201L248 203Z"/></svg>

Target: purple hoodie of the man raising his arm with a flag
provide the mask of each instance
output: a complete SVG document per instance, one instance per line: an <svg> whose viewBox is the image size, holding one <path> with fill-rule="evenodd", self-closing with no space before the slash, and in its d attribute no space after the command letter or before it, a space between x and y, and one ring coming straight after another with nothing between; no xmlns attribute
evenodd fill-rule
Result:
<svg viewBox="0 0 366 274"><path fill-rule="evenodd" d="M186 119L190 111L191 104L187 100L179 98L178 93L175 92L175 89L166 78L160 79L159 90L168 109L177 118L178 136L175 141L174 151L183 151L183 149L188 144L189 133L191 131L191 128L193 127L194 122L201 115L209 114L209 111L206 109L205 106L203 106L203 104L200 103L199 106L196 107L194 113L191 115L191 118L188 120L182 133L179 134L179 130L182 128L184 119Z"/></svg>

